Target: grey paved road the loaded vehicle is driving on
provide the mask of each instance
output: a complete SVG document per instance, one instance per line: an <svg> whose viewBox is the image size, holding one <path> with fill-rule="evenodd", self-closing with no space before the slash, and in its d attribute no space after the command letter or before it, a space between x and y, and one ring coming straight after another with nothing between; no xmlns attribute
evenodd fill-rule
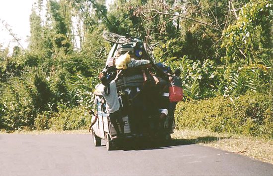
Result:
<svg viewBox="0 0 273 176"><path fill-rule="evenodd" d="M88 134L0 134L0 176L90 175L269 176L273 165L181 141L107 151Z"/></svg>

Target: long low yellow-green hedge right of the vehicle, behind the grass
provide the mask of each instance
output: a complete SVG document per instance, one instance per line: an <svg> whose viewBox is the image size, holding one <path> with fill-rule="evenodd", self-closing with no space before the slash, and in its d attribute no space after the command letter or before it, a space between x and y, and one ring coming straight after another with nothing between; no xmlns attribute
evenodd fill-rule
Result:
<svg viewBox="0 0 273 176"><path fill-rule="evenodd" d="M208 129L273 138L273 98L265 94L247 94L238 98L217 96L177 106L179 129Z"/></svg>

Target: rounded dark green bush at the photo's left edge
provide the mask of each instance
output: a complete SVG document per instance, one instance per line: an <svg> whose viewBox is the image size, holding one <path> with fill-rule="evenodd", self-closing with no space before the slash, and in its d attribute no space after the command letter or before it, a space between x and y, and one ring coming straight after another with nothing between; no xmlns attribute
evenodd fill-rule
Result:
<svg viewBox="0 0 273 176"><path fill-rule="evenodd" d="M36 110L29 82L12 78L10 84L3 85L0 94L1 125L5 130L21 130L34 128Z"/></svg>

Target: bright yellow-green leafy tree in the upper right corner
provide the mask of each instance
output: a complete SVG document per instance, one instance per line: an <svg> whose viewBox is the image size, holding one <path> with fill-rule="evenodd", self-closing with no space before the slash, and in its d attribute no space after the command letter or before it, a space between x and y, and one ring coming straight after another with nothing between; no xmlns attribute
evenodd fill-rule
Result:
<svg viewBox="0 0 273 176"><path fill-rule="evenodd" d="M269 0L250 1L243 6L238 21L223 33L226 63L253 64L271 58L273 5Z"/></svg>

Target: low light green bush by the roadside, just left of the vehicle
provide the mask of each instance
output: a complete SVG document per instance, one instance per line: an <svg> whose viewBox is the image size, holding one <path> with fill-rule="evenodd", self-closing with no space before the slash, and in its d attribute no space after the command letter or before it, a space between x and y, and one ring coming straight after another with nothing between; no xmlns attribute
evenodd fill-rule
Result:
<svg viewBox="0 0 273 176"><path fill-rule="evenodd" d="M46 117L42 117L46 118ZM41 120L43 122L43 120ZM87 128L91 122L91 116L81 108L62 109L53 113L49 120L49 127L52 130L80 130ZM45 123L46 124L46 123Z"/></svg>

